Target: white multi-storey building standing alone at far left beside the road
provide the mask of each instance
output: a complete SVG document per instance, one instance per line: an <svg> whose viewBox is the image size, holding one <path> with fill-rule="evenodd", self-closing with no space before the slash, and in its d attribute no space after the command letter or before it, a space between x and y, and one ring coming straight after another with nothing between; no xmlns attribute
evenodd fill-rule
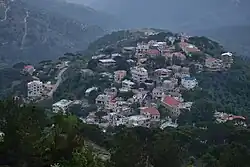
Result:
<svg viewBox="0 0 250 167"><path fill-rule="evenodd" d="M43 93L43 83L41 81L31 81L27 84L28 97L40 97Z"/></svg>

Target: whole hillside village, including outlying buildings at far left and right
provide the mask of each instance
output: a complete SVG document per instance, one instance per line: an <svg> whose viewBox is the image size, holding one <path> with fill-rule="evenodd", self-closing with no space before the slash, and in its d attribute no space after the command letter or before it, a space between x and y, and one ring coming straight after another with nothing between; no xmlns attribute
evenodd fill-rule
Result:
<svg viewBox="0 0 250 167"><path fill-rule="evenodd" d="M99 80L103 78L101 82L107 82L106 87L89 84L83 98L61 98L53 103L51 110L66 114L74 106L80 106L79 113L84 112L81 110L84 106L94 106L91 112L83 114L85 116L79 114L79 117L103 129L119 125L175 128L180 114L189 112L193 104L183 98L183 92L201 89L195 74L223 72L233 64L232 53L209 54L204 44L194 42L195 38L146 31L136 44L121 46L119 51L111 47L100 49L78 72ZM24 72L35 74L34 80L27 84L25 101L52 98L63 83L62 75L72 65L70 60L62 59L54 67L57 70L55 80L46 83L39 80L39 71L33 66L25 66ZM94 98L92 104L87 100L90 97ZM246 126L243 116L216 111L214 117L218 123L234 121L235 125Z"/></svg>

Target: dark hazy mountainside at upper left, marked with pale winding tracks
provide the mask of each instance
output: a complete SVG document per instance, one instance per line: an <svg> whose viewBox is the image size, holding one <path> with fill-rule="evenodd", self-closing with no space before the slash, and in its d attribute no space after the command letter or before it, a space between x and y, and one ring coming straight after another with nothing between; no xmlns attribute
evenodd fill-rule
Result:
<svg viewBox="0 0 250 167"><path fill-rule="evenodd" d="M38 62L84 50L113 27L109 16L58 0L0 2L0 63Z"/></svg>

